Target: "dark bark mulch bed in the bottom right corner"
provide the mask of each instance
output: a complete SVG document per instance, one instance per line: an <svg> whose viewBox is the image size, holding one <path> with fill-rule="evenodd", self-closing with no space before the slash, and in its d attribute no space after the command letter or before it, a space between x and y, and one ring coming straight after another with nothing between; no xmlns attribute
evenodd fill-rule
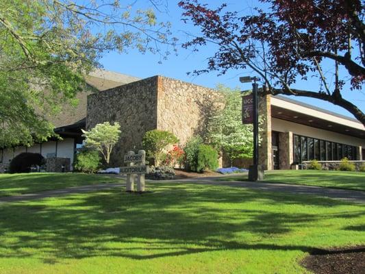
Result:
<svg viewBox="0 0 365 274"><path fill-rule="evenodd" d="M365 245L316 249L301 263L318 274L365 274Z"/></svg>

